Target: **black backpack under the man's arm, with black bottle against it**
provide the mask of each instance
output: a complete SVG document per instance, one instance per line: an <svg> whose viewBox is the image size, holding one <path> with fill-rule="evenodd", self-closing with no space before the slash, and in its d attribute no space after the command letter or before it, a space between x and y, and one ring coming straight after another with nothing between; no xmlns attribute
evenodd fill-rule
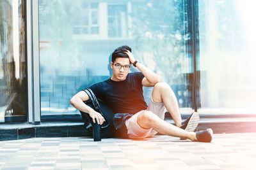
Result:
<svg viewBox="0 0 256 170"><path fill-rule="evenodd" d="M104 123L99 125L97 124L97 121L93 123L92 118L88 113L80 111L86 129L93 133L93 141L101 141L101 138L113 138L115 135L113 111L111 111L103 101L98 100L90 88L84 89L84 92L90 97L90 100L84 101L84 103L93 108L93 110L101 113L105 119Z"/></svg>

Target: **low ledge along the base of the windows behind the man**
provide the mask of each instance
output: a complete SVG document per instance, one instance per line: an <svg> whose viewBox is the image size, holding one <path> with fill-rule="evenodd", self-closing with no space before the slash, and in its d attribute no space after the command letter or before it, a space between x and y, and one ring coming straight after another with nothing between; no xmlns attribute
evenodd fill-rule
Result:
<svg viewBox="0 0 256 170"><path fill-rule="evenodd" d="M173 120L166 118L170 124ZM200 117L196 131L211 128L214 134L256 132L256 117ZM83 122L42 122L39 125L27 123L0 124L0 141L40 137L92 136Z"/></svg>

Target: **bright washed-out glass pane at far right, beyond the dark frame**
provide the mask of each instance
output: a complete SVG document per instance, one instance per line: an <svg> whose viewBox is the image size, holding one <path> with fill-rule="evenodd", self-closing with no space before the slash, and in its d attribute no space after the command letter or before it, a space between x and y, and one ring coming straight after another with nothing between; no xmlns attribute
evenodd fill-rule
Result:
<svg viewBox="0 0 256 170"><path fill-rule="evenodd" d="M199 1L202 113L255 113L254 1Z"/></svg>

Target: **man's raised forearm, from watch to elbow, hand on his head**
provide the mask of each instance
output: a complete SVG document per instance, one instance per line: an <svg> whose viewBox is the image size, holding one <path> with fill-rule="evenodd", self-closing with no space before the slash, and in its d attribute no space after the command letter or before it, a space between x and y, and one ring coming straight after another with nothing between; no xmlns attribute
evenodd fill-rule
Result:
<svg viewBox="0 0 256 170"><path fill-rule="evenodd" d="M150 83L158 83L161 81L160 77L154 73L153 71L151 71L150 69L148 69L148 67L144 66L143 64L141 64L140 62L136 63L136 67L141 71L141 73L147 78L148 81L150 81Z"/></svg>

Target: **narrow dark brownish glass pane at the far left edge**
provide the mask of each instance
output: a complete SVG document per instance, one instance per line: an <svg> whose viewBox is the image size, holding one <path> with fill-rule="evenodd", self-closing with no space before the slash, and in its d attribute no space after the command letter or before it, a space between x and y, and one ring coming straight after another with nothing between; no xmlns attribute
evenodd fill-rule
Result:
<svg viewBox="0 0 256 170"><path fill-rule="evenodd" d="M27 116L25 3L0 1L0 122Z"/></svg>

